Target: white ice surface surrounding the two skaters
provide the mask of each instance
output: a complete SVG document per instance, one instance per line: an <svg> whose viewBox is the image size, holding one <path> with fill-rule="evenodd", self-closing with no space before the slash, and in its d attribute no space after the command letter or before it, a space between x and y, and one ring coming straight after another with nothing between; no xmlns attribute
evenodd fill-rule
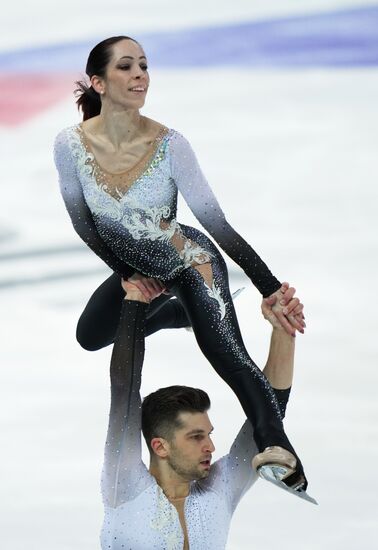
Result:
<svg viewBox="0 0 378 550"><path fill-rule="evenodd" d="M121 32L138 38L377 7L342 0L252 4L92 0L57 6L39 0L33 8L23 2L21 10L9 4L0 46L9 53L92 38L95 43ZM363 29L360 38L363 43ZM212 55L206 43L203 48ZM85 58L81 64L84 70ZM1 81L9 84L10 74L0 69ZM26 62L24 72L31 72ZM320 505L261 481L237 509L227 550L373 548L378 60L338 68L161 65L150 73L143 113L188 137L229 221L279 278L298 289L306 307L308 329L297 338L286 426ZM52 161L55 135L79 120L70 93L75 76L57 68L56 101L42 98L33 116L25 77L14 92L25 98L25 116L17 123L5 116L17 106L2 106L2 550L99 548L111 350L83 351L74 331L108 270L74 233ZM34 77L37 84L43 79ZM180 211L179 221L197 223L185 204ZM263 366L270 331L259 313L259 295L235 264L229 266L232 289L247 287L237 312L247 348ZM216 457L227 452L243 412L193 335L161 332L146 348L142 393L172 383L207 390Z"/></svg>

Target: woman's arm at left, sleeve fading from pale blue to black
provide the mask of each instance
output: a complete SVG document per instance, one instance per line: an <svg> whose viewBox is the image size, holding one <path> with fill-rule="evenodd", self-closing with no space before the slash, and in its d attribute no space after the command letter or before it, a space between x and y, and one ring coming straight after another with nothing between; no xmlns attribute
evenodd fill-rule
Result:
<svg viewBox="0 0 378 550"><path fill-rule="evenodd" d="M60 191L76 233L113 271L127 279L135 273L135 269L122 262L97 232L77 176L66 130L60 132L55 140L54 160L59 173Z"/></svg>

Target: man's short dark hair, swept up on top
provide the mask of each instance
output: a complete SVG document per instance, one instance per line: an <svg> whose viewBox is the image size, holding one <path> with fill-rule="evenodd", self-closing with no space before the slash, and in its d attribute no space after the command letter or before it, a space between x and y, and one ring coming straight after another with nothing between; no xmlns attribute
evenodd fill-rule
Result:
<svg viewBox="0 0 378 550"><path fill-rule="evenodd" d="M154 437L172 441L175 430L182 427L180 413L203 413L209 408L207 393L188 386L169 386L147 395L142 403L142 432L150 452Z"/></svg>

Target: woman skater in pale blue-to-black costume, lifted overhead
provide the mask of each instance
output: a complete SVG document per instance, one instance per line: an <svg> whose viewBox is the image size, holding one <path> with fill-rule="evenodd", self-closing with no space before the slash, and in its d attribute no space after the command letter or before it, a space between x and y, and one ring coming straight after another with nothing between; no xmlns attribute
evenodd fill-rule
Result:
<svg viewBox="0 0 378 550"><path fill-rule="evenodd" d="M174 295L176 310L187 317L202 352L254 426L259 449L254 466L281 464L287 486L305 490L303 467L284 432L276 396L244 347L226 264L208 237L177 222L178 191L264 297L281 299L281 283L228 224L187 140L140 114L149 75L139 43L125 36L100 42L90 52L86 73L91 86L79 83L77 101L84 121L58 134L55 162L75 230L115 272L97 294L103 312L103 318L96 316L97 347L114 340L124 297L121 278L150 298L163 290ZM155 311L169 298L157 298ZM278 318L288 331L303 332L301 304L292 295L284 298L288 309L278 305ZM91 308L93 300L96 296ZM284 313L291 313L290 322ZM78 333L82 329L79 323Z"/></svg>

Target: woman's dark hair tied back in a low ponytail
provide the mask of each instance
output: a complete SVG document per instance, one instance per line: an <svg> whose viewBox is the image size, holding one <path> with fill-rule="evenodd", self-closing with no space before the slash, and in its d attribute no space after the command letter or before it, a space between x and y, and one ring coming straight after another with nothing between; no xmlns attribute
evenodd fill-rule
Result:
<svg viewBox="0 0 378 550"><path fill-rule="evenodd" d="M93 75L105 76L106 67L112 57L113 45L121 40L132 40L136 44L139 44L139 42L134 40L134 38L130 38L130 36L112 36L99 42L88 56L85 72L89 78ZM99 115L101 111L100 94L91 85L88 86L84 80L78 80L76 86L77 88L74 91L77 98L76 104L77 108L83 112L83 120Z"/></svg>

